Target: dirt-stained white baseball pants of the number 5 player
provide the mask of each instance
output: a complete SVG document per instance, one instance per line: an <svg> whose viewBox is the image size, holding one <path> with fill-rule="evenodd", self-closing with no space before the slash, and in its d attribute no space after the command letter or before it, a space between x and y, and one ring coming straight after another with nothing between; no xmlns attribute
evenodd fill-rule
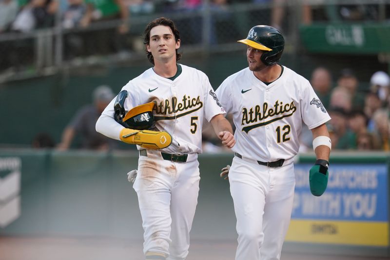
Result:
<svg viewBox="0 0 390 260"><path fill-rule="evenodd" d="M187 162L163 160L148 150L138 159L137 192L144 229L144 254L162 253L167 260L184 260L190 246L190 230L199 192L197 154Z"/></svg>

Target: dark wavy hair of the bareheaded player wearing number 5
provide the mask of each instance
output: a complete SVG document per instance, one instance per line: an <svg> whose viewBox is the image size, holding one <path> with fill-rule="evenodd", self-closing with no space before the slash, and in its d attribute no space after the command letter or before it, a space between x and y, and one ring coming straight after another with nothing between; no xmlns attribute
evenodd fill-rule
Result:
<svg viewBox="0 0 390 260"><path fill-rule="evenodd" d="M171 28L172 33L175 36L176 42L178 40L180 40L180 33L177 30L176 25L175 25L175 23L172 20L170 20L168 18L165 18L165 17L160 17L160 18L157 18L157 19L149 22L148 25L146 26L146 29L145 29L145 32L144 32L144 41L143 41L143 43L145 44L146 55L148 56L149 61L153 65L155 64L155 60L153 59L152 53L148 52L148 50L146 49L146 45L150 44L150 31L152 30L153 27L156 27L158 25L164 25L164 26L168 26L169 28ZM181 58L181 54L178 53L178 51L176 49L176 61L180 60L180 58Z"/></svg>

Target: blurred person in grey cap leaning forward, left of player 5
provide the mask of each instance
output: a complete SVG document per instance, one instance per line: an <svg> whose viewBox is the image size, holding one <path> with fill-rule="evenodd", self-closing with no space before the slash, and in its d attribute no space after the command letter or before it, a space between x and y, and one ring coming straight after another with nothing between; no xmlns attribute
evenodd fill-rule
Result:
<svg viewBox="0 0 390 260"><path fill-rule="evenodd" d="M107 150L115 148L116 141L96 132L96 121L104 108L115 97L111 88L106 85L98 86L93 92L94 104L78 110L74 118L62 133L58 149L63 151L71 147L72 141L78 134L81 137L82 149Z"/></svg>

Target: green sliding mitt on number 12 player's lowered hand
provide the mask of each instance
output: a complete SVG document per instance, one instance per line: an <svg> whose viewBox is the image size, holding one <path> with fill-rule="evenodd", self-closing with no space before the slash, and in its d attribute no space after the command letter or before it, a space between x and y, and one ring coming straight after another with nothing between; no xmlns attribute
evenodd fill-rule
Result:
<svg viewBox="0 0 390 260"><path fill-rule="evenodd" d="M310 191L314 196L321 196L328 185L329 161L316 160L309 172Z"/></svg>

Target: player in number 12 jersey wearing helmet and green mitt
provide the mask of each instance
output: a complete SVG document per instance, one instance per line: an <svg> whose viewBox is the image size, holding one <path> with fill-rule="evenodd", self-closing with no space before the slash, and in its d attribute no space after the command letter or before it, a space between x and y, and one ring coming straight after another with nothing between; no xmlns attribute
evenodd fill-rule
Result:
<svg viewBox="0 0 390 260"><path fill-rule="evenodd" d="M249 67L215 92L236 127L232 166L221 173L228 176L237 219L235 259L278 260L291 219L302 121L313 134L310 186L320 196L328 181L330 117L309 81L277 64L284 48L278 30L254 26L239 42L247 45Z"/></svg>

